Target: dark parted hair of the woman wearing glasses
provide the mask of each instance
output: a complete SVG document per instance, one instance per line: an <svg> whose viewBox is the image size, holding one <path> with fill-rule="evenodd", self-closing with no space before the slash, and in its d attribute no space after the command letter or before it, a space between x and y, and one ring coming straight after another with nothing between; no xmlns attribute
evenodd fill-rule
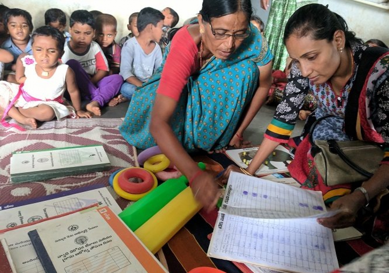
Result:
<svg viewBox="0 0 389 273"><path fill-rule="evenodd" d="M200 14L203 20L209 23L210 19L222 17L224 15L233 14L242 11L247 21L252 15L252 7L250 0L203 0L203 6Z"/></svg>

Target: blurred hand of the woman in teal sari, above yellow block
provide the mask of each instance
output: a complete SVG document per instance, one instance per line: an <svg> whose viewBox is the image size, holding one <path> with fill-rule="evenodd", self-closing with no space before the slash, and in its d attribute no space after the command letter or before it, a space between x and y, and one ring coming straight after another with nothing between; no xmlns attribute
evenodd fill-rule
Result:
<svg viewBox="0 0 389 273"><path fill-rule="evenodd" d="M196 200L203 205L207 212L216 207L220 195L215 179L209 173L202 172L197 176L192 181L191 189Z"/></svg>

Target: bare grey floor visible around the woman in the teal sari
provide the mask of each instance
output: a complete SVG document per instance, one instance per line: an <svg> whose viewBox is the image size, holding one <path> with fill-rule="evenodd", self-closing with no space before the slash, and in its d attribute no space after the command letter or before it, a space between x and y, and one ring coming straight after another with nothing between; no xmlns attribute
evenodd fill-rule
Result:
<svg viewBox="0 0 389 273"><path fill-rule="evenodd" d="M104 107L100 118L123 118L126 115L129 102L121 103L115 107ZM244 132L244 139L253 145L261 144L263 134L273 118L275 106L264 105ZM298 121L292 136L298 136L303 129L304 122Z"/></svg>

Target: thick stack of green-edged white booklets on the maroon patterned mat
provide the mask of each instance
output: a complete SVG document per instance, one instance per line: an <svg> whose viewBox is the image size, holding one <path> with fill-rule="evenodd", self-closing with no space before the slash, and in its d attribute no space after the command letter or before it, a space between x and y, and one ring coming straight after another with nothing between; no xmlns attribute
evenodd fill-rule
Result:
<svg viewBox="0 0 389 273"><path fill-rule="evenodd" d="M88 145L12 153L11 182L42 181L110 169L102 145Z"/></svg>

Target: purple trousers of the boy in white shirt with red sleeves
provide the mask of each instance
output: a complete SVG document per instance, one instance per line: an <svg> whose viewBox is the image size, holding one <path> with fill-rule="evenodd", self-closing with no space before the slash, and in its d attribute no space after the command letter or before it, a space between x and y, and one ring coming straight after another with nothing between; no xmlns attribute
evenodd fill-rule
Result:
<svg viewBox="0 0 389 273"><path fill-rule="evenodd" d="M97 82L96 87L78 61L72 59L67 61L66 64L75 73L75 80L80 89L82 99L97 101L100 106L104 106L119 93L123 83L123 77L120 75L106 76Z"/></svg>

